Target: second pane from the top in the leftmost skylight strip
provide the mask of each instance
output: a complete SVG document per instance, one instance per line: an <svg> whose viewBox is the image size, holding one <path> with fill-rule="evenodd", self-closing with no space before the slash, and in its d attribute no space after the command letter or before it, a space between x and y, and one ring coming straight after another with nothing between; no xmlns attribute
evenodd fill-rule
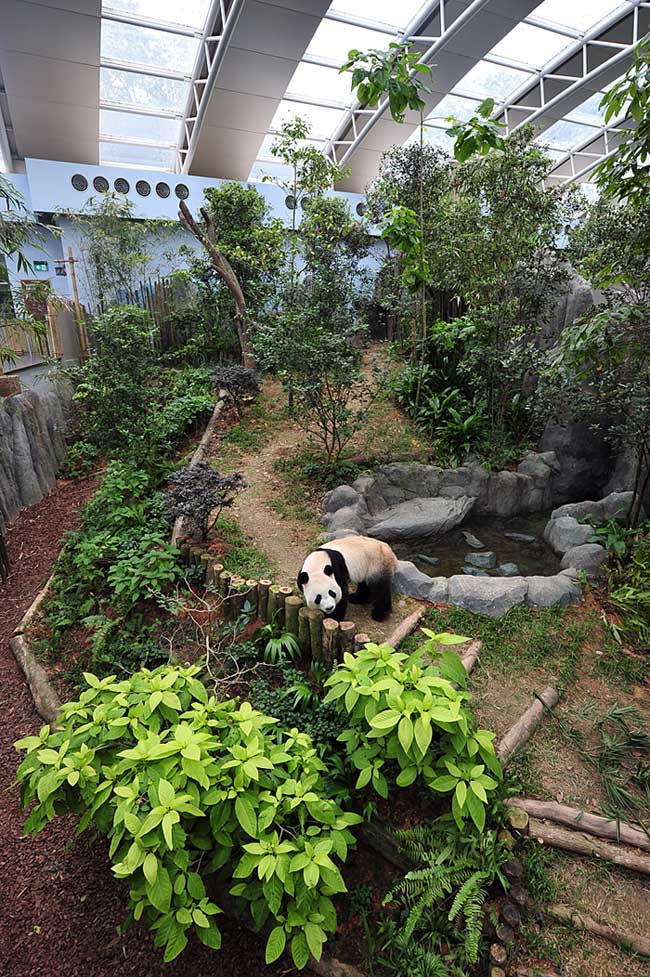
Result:
<svg viewBox="0 0 650 977"><path fill-rule="evenodd" d="M198 48L196 37L102 20L102 58L189 75Z"/></svg>

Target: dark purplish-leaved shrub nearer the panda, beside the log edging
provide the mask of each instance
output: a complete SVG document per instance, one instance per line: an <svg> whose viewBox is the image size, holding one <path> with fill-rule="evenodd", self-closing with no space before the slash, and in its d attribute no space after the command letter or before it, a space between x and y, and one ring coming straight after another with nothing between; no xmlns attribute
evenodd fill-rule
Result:
<svg viewBox="0 0 650 977"><path fill-rule="evenodd" d="M167 493L167 511L172 519L186 516L206 540L224 509L230 508L235 496L246 488L241 472L222 475L207 461L199 461L171 479Z"/></svg>

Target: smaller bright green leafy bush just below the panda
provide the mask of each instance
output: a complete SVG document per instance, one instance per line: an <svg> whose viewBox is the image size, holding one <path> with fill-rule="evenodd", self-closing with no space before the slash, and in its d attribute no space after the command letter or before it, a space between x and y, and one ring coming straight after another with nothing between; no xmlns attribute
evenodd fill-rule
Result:
<svg viewBox="0 0 650 977"><path fill-rule="evenodd" d="M325 701L349 717L350 729L340 739L359 771L357 788L372 785L387 797L393 761L398 787L422 777L432 791L452 794L451 813L459 828L470 817L482 831L488 794L501 777L494 733L477 729L464 705L470 695L460 658L451 651L441 655L437 648L440 642L467 639L424 631L429 640L412 655L385 644L346 654L326 682ZM425 663L425 655L435 659L432 664Z"/></svg>

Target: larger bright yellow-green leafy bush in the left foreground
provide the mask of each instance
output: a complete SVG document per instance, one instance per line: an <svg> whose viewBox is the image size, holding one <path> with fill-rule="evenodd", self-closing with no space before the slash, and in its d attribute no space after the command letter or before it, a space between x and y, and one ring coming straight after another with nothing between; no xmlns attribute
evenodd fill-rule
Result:
<svg viewBox="0 0 650 977"><path fill-rule="evenodd" d="M247 703L218 702L199 669L142 670L99 681L61 710L56 730L19 740L25 824L81 815L110 838L117 878L130 883L129 921L144 918L173 960L195 931L217 949L219 906L205 877L273 925L266 960L289 945L295 965L320 958L336 929L332 896L345 891L336 862L360 821L328 800L311 741Z"/></svg>

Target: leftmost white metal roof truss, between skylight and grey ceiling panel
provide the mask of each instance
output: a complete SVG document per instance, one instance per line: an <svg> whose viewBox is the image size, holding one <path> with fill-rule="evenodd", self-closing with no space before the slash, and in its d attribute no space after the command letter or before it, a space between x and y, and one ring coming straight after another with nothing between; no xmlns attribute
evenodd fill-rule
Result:
<svg viewBox="0 0 650 977"><path fill-rule="evenodd" d="M245 0L211 0L177 145L182 173L188 173L192 165L208 102L244 3Z"/></svg>

